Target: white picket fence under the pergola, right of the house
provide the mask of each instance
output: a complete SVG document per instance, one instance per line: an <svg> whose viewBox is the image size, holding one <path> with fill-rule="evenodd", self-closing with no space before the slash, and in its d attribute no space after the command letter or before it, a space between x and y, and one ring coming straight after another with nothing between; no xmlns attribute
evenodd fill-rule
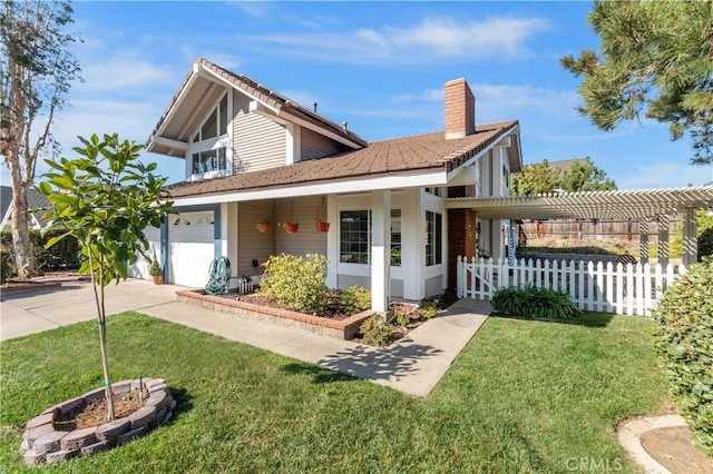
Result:
<svg viewBox="0 0 713 474"><path fill-rule="evenodd" d="M457 293L459 298L491 298L499 288L534 285L567 292L580 309L651 316L663 292L678 276L684 265L612 264L575 260L476 259L458 257Z"/></svg>

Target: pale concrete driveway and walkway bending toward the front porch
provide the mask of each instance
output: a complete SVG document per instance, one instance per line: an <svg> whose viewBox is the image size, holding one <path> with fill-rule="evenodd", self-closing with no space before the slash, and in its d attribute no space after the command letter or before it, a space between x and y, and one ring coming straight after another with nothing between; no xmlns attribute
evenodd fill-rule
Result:
<svg viewBox="0 0 713 474"><path fill-rule="evenodd" d="M487 302L461 299L407 338L381 349L179 303L175 300L178 289L185 288L136 279L109 285L107 313L137 310L418 397L431 393L491 312ZM0 340L96 317L91 285L82 282L2 295L0 305Z"/></svg>

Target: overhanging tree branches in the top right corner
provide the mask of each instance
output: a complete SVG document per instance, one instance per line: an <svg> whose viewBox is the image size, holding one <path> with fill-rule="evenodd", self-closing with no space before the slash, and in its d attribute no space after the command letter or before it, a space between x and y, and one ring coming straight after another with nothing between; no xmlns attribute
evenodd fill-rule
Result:
<svg viewBox="0 0 713 474"><path fill-rule="evenodd" d="M597 0L587 17L602 39L561 66L579 77L582 115L603 130L646 117L688 134L692 164L713 160L713 3Z"/></svg>

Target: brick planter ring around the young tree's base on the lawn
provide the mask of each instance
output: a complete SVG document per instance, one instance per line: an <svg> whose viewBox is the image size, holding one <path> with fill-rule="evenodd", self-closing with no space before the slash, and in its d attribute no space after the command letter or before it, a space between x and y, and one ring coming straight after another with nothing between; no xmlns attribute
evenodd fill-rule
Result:
<svg viewBox="0 0 713 474"><path fill-rule="evenodd" d="M102 397L104 388L88 392L80 397L68 399L47 408L39 416L27 422L20 454L27 464L59 463L77 456L120 446L135 437L163 425L173 415L176 401L170 396L163 378L144 378L148 398L144 405L123 418L88 428L60 431L55 427L59 415L66 415L85 406L88 401ZM111 384L115 395L139 389L139 379Z"/></svg>

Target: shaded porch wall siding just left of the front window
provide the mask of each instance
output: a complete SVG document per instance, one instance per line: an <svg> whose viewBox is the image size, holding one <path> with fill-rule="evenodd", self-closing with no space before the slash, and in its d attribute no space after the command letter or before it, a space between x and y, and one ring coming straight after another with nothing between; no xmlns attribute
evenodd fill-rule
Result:
<svg viewBox="0 0 713 474"><path fill-rule="evenodd" d="M275 234L276 254L321 254L326 256L326 233L318 233L314 226L319 196L307 196L294 199L293 220L300 224L297 233L287 234L279 227ZM277 223L290 220L290 199L275 201L275 218Z"/></svg>

